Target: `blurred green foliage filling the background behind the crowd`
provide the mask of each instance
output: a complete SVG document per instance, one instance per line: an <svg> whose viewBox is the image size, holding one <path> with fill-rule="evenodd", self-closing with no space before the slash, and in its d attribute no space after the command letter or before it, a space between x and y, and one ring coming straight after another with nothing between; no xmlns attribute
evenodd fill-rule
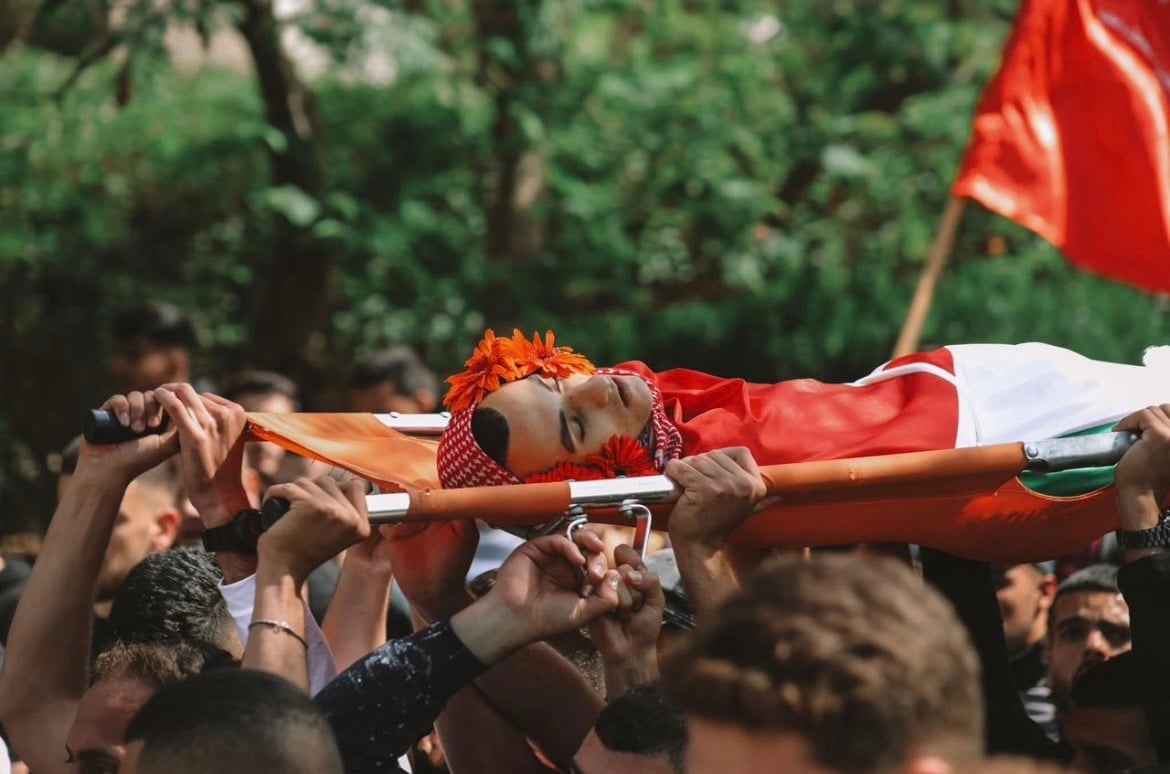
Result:
<svg viewBox="0 0 1170 774"><path fill-rule="evenodd" d="M288 138L255 77L171 69L157 25L56 98L75 60L11 49L0 485L108 392L109 323L136 300L190 310L204 373L263 364L249 311L280 229L331 265L296 374L315 408L365 351L450 371L484 325L550 326L597 361L855 378L889 354L1014 5L378 2L393 77L371 83L369 25L321 0L298 20L331 54L309 83L316 193L273 182ZM1164 302L969 206L925 336L1135 360L1168 333Z"/></svg>

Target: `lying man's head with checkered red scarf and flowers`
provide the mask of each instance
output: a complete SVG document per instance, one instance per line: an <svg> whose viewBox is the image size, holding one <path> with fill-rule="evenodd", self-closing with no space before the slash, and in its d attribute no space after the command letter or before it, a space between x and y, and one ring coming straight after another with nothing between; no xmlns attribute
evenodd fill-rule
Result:
<svg viewBox="0 0 1170 774"><path fill-rule="evenodd" d="M682 437L653 382L597 369L552 333L488 331L443 399L450 422L439 441L446 488L521 481L584 481L659 472Z"/></svg>

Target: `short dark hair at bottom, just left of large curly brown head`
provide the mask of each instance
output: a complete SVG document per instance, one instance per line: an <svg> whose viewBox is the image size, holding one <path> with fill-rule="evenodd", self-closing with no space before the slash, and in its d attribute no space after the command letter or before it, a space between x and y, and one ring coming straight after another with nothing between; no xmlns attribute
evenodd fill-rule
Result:
<svg viewBox="0 0 1170 774"><path fill-rule="evenodd" d="M658 683L635 685L601 710L593 724L610 749L666 760L682 773L687 755L687 717Z"/></svg>

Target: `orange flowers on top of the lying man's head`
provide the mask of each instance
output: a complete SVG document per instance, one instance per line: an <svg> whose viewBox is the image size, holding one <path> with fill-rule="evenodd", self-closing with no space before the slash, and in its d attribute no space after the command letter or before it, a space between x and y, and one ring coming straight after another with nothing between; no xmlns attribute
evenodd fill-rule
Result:
<svg viewBox="0 0 1170 774"><path fill-rule="evenodd" d="M532 374L564 379L593 373L593 364L585 355L555 344L552 331L545 331L544 340L536 332L529 341L519 330L512 330L511 338L505 339L497 338L495 331L488 329L472 357L463 362L463 373L447 378L450 388L443 405L449 412L462 412L477 405L488 393Z"/></svg>

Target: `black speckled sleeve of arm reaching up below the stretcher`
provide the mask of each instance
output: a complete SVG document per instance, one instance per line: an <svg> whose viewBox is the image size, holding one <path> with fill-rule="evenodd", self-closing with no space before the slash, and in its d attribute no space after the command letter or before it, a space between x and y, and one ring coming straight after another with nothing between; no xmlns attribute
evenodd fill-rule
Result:
<svg viewBox="0 0 1170 774"><path fill-rule="evenodd" d="M447 700L486 669L443 621L387 642L314 700L346 772L397 772L398 758L431 730Z"/></svg>

